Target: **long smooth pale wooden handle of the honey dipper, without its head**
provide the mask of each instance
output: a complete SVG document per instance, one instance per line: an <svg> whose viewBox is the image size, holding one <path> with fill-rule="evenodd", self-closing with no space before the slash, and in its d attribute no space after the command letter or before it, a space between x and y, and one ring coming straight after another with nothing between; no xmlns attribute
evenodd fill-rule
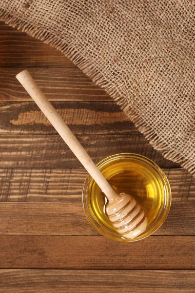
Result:
<svg viewBox="0 0 195 293"><path fill-rule="evenodd" d="M117 192L109 185L107 180L103 177L101 172L98 170L86 150L78 142L75 135L72 133L70 128L65 124L59 113L45 97L39 86L36 84L32 76L27 70L21 71L17 74L16 78L23 85L25 90L39 106L40 110L47 117L50 123L58 131L64 142L70 147L73 153L76 155L80 163L89 172L92 178L96 181L102 192L105 193L109 202L116 200L118 197Z"/></svg>

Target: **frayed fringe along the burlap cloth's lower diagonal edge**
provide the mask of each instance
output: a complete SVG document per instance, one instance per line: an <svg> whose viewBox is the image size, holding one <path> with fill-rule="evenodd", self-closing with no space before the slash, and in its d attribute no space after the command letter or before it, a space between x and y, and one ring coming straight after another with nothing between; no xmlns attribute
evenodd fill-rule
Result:
<svg viewBox="0 0 195 293"><path fill-rule="evenodd" d="M195 162L192 162L190 158L185 157L180 151L171 149L162 139L156 134L156 132L146 124L146 122L140 117L130 105L126 105L124 98L119 98L119 93L115 84L106 81L101 73L96 71L84 57L80 56L79 53L71 47L71 45L64 42L58 36L48 32L45 28L38 27L34 24L27 23L21 19L12 16L8 11L0 8L0 20L13 28L19 29L26 32L29 36L35 37L46 44L49 44L56 49L63 52L74 64L76 64L93 82L99 85L117 102L121 109L125 112L128 118L133 121L138 130L144 134L149 143L156 149L161 151L162 155L180 164L183 168L187 169L193 176L195 176Z"/></svg>

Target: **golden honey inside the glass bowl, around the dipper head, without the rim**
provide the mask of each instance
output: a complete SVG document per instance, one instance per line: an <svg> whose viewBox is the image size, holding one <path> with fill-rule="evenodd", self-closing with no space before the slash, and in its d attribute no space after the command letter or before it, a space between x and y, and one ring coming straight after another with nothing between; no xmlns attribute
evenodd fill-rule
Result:
<svg viewBox="0 0 195 293"><path fill-rule="evenodd" d="M129 193L137 200L145 210L150 228L165 204L163 182L154 168L131 158L107 164L101 172L118 193ZM100 226L104 225L117 233L105 213L107 199L93 180L89 190L88 204L94 218Z"/></svg>

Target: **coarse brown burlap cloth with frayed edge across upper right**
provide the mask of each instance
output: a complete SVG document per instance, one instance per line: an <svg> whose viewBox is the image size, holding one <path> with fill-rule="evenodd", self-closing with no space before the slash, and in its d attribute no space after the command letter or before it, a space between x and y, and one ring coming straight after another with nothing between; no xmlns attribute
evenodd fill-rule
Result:
<svg viewBox="0 0 195 293"><path fill-rule="evenodd" d="M195 175L195 0L0 0L0 19L62 51Z"/></svg>

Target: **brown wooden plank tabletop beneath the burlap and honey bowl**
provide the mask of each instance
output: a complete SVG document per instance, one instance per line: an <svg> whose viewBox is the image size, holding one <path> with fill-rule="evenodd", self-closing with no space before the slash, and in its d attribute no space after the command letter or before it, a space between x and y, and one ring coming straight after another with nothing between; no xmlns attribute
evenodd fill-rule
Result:
<svg viewBox="0 0 195 293"><path fill-rule="evenodd" d="M0 22L0 293L195 292L195 178L164 159L62 53ZM16 80L28 68L94 162L154 160L171 183L164 225L115 242L87 222L87 175Z"/></svg>

